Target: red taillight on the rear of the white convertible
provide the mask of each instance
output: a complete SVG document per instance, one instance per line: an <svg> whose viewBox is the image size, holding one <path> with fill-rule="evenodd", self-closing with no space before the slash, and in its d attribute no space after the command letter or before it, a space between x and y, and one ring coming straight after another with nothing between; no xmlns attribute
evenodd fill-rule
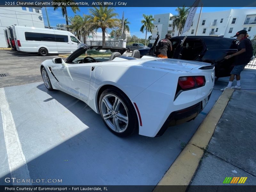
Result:
<svg viewBox="0 0 256 192"><path fill-rule="evenodd" d="M189 76L180 77L178 80L178 85L180 85L180 90L193 89L196 87L203 86L205 84L204 76Z"/></svg>

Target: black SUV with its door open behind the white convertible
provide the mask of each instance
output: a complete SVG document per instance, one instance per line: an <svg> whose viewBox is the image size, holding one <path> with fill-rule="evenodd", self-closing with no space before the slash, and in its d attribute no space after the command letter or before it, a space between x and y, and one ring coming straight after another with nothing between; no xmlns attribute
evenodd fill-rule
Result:
<svg viewBox="0 0 256 192"><path fill-rule="evenodd" d="M140 56L155 56L157 36L154 45L148 49L139 49ZM216 36L177 36L170 39L172 51L167 52L168 58L194 60L215 65L215 76L230 76L234 57L225 60L226 55L237 52L236 39Z"/></svg>

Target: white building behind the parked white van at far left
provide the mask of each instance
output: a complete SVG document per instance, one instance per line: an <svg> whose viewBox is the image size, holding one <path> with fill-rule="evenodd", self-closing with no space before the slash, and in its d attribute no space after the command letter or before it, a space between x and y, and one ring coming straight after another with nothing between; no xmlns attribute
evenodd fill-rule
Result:
<svg viewBox="0 0 256 192"><path fill-rule="evenodd" d="M12 25L44 28L41 7L0 7L0 39L4 39L4 29ZM0 47L7 47L0 41Z"/></svg>

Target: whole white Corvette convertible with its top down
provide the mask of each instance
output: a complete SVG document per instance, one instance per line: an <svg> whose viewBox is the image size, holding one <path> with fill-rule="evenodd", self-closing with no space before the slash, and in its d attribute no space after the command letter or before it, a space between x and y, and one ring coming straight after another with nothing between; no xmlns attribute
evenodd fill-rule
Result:
<svg viewBox="0 0 256 192"><path fill-rule="evenodd" d="M68 58L45 60L46 88L66 92L100 114L114 134L155 137L194 119L214 85L214 66L196 61L140 58L125 48L80 47Z"/></svg>

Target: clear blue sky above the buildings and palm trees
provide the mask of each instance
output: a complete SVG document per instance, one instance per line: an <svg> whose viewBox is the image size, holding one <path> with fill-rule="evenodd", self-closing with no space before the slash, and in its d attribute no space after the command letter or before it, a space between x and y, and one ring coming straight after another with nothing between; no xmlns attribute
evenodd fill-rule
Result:
<svg viewBox="0 0 256 192"><path fill-rule="evenodd" d="M224 11L230 10L233 7L203 7L202 12L216 12L216 11ZM255 7L235 7L235 9L254 9ZM89 14L88 7L80 7L80 12L76 12L76 15ZM119 18L122 19L123 11L124 18L128 18L131 36L136 35L139 38L145 38L144 33L140 32L140 27L142 26L141 20L143 20L142 14L146 15L154 15L154 14L162 14L162 13L172 13L176 14L176 7L115 7L115 12L118 13ZM68 16L74 16L75 14L71 11L71 8L68 7ZM42 8L44 24L48 26L45 9ZM47 7L47 12L49 16L50 25L56 27L56 24L65 24L66 20L62 17L61 9L59 8L56 11L53 11L53 7ZM200 7L198 7L197 12L200 12ZM101 32L100 29L98 29ZM111 32L111 29L108 29L108 33ZM147 35L147 37L150 33Z"/></svg>

